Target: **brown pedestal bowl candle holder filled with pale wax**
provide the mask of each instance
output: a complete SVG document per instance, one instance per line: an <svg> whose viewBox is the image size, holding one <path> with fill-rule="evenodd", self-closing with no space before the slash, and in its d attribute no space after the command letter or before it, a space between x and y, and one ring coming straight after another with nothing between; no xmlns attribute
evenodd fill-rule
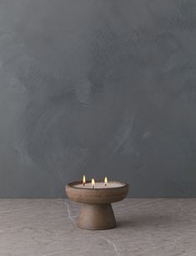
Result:
<svg viewBox="0 0 196 256"><path fill-rule="evenodd" d="M86 187L81 182L71 182L66 186L68 197L82 203L78 227L85 229L108 229L116 227L112 202L123 200L128 194L128 184L123 182L108 182L108 187Z"/></svg>

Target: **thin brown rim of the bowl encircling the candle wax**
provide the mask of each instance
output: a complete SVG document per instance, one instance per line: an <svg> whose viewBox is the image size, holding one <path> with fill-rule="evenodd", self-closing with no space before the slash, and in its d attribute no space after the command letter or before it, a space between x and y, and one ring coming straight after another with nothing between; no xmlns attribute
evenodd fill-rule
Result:
<svg viewBox="0 0 196 256"><path fill-rule="evenodd" d="M98 180L96 182L103 182L103 181ZM96 184L96 182L95 182L95 184ZM126 183L126 182L108 181L108 183L112 183L112 182L122 184L123 186L121 186L121 187L103 187L103 188L101 188L101 187L94 187L94 188L92 188L92 187L74 187L74 185L83 184L83 182L77 181L77 182L69 182L66 185L66 187L71 187L73 189L78 189L78 190L91 190L91 191L95 191L95 190L96 191L98 191L98 190L103 191L103 190L122 189L122 188L125 188L125 187L129 187L128 183ZM91 181L86 181L86 183L91 183Z"/></svg>

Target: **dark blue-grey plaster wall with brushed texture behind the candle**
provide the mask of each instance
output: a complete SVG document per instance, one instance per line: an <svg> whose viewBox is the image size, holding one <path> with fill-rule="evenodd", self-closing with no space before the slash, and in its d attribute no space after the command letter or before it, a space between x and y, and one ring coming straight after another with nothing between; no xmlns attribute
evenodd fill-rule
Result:
<svg viewBox="0 0 196 256"><path fill-rule="evenodd" d="M195 1L0 0L0 197L196 197L195 68Z"/></svg>

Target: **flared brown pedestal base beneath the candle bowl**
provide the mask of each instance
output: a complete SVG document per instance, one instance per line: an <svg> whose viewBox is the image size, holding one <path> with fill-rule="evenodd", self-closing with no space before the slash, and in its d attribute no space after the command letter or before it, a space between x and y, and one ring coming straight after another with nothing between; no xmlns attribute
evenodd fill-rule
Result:
<svg viewBox="0 0 196 256"><path fill-rule="evenodd" d="M111 203L82 203L78 221L79 228L108 229L116 227L116 219Z"/></svg>

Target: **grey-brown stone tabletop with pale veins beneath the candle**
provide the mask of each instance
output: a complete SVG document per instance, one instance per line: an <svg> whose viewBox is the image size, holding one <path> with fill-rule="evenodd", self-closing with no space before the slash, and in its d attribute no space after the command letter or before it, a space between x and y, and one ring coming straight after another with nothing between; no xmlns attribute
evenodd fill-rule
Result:
<svg viewBox="0 0 196 256"><path fill-rule="evenodd" d="M1 199L1 256L194 256L196 199L125 199L114 203L118 227L77 227L67 199Z"/></svg>

